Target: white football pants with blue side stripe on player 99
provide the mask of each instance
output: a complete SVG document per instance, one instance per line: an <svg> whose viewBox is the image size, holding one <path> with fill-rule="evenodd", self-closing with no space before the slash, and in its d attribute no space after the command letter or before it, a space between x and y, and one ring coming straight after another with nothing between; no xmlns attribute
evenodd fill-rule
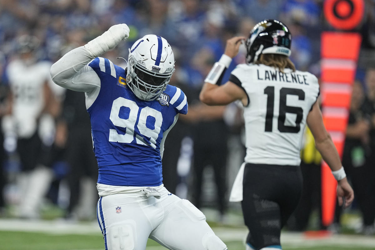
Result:
<svg viewBox="0 0 375 250"><path fill-rule="evenodd" d="M142 193L103 196L97 217L106 250L145 250L147 238L171 250L225 250L204 214L189 201L158 189L161 198Z"/></svg>

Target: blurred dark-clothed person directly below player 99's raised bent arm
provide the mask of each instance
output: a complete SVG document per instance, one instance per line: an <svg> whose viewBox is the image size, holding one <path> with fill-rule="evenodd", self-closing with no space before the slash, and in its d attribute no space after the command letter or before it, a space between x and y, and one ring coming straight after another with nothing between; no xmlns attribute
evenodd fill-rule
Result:
<svg viewBox="0 0 375 250"><path fill-rule="evenodd" d="M99 199L95 182L98 164L93 153L90 117L84 93L66 90L59 130L65 133L65 159L70 190L67 219L91 220L96 217Z"/></svg>

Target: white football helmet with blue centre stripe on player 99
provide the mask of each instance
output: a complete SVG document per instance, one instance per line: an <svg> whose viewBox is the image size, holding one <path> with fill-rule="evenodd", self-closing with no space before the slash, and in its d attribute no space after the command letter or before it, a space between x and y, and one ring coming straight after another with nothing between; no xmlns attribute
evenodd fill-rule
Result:
<svg viewBox="0 0 375 250"><path fill-rule="evenodd" d="M155 100L165 90L174 72L174 55L160 36L145 35L129 49L127 86L141 100Z"/></svg>

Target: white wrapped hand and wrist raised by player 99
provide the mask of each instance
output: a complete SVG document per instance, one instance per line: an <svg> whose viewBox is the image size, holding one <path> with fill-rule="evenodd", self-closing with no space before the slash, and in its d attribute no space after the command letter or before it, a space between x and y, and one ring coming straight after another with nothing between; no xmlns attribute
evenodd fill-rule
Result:
<svg viewBox="0 0 375 250"><path fill-rule="evenodd" d="M92 57L98 57L104 52L113 49L118 43L129 37L129 27L126 24L116 24L85 45Z"/></svg>

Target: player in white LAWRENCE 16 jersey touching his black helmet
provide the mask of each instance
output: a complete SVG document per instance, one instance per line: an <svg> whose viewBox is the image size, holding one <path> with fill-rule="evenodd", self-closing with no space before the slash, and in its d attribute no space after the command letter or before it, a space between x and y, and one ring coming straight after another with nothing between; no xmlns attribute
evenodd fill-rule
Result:
<svg viewBox="0 0 375 250"><path fill-rule="evenodd" d="M248 64L238 65L229 81L219 86L242 40L246 40ZM258 23L247 39L229 39L199 96L208 105L240 100L244 106L246 157L230 201L242 202L249 228L247 250L281 249L281 228L301 195L300 150L306 124L338 180L339 204L348 207L354 199L339 155L323 124L317 102L318 79L295 69L288 58L290 45L288 28L277 20Z"/></svg>

